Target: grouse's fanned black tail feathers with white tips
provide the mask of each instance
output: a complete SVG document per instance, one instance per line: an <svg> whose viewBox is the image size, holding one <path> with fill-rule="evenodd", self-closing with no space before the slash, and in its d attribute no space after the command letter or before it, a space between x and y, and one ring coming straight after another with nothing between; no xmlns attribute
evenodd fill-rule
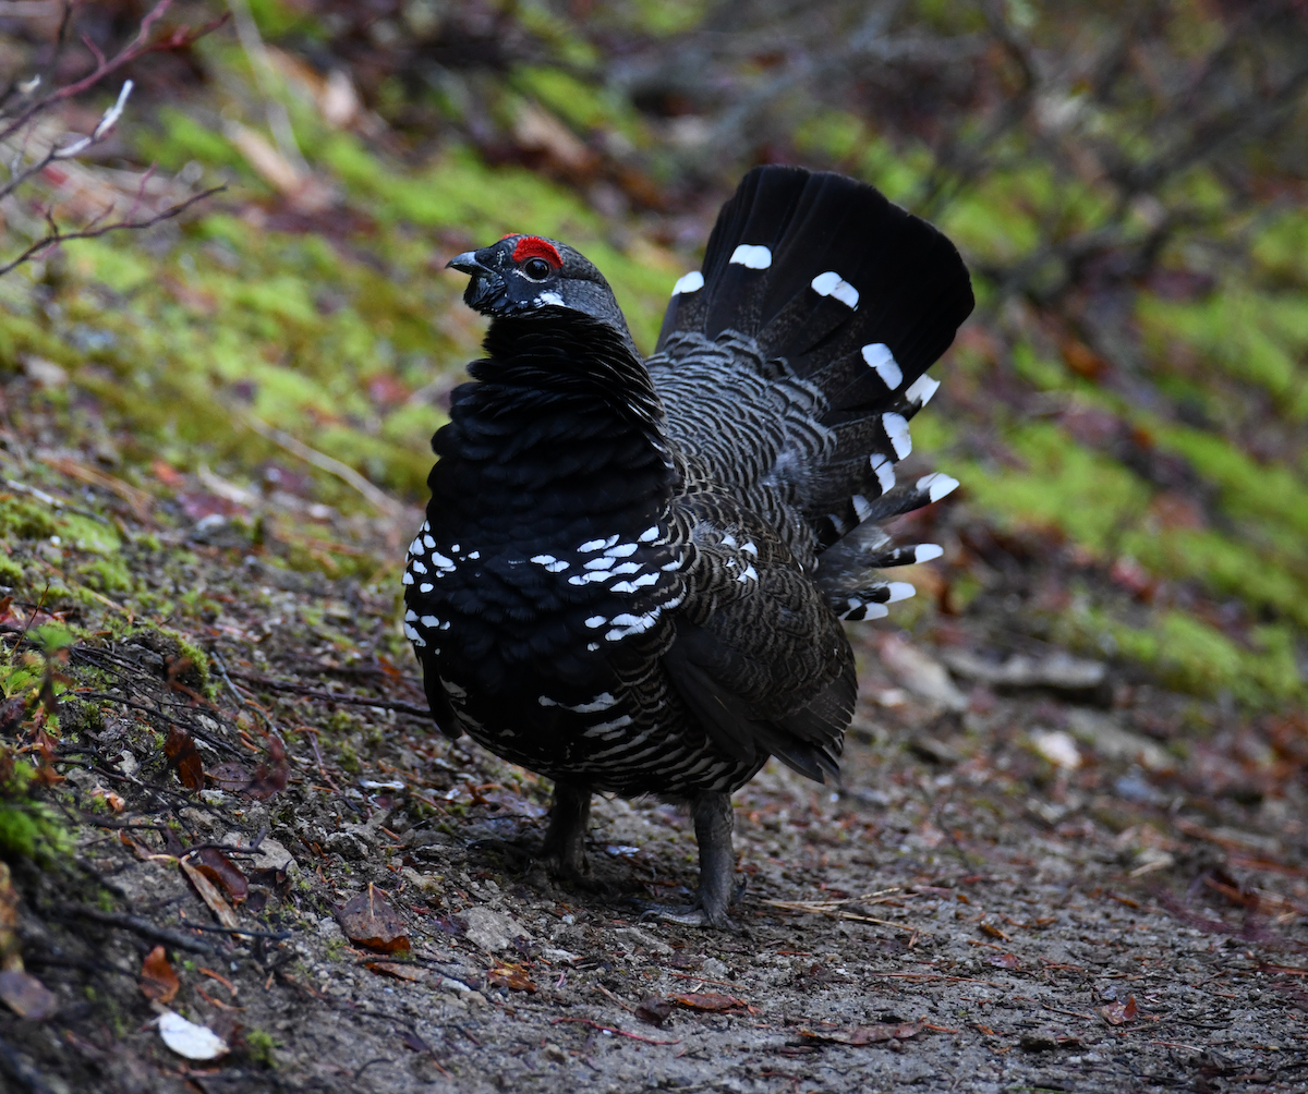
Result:
<svg viewBox="0 0 1308 1094"><path fill-rule="evenodd" d="M938 501L957 484L926 476L900 486L909 420L939 384L926 370L973 307L954 244L879 191L836 174L756 167L718 216L701 272L674 290L659 352L744 336L785 380L816 388L825 431L807 465L772 474L799 488L818 539L816 580L848 618L884 614L903 583L870 571L934 557L889 546L875 522ZM803 463L803 461L802 461ZM872 527L869 527L872 525Z"/></svg>

